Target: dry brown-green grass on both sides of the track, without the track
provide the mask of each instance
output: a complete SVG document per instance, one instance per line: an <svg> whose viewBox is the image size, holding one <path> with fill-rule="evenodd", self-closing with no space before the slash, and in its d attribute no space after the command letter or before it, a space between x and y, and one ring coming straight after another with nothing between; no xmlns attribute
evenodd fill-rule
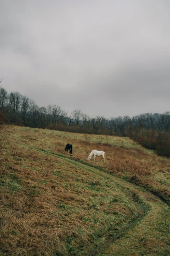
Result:
<svg viewBox="0 0 170 256"><path fill-rule="evenodd" d="M88 254L110 223L115 228L137 211L114 184L37 147L129 179L167 201L170 196L170 160L129 141L124 146L115 138L120 145L114 145L110 136L19 127L9 136L0 156L2 255L75 255L83 248ZM73 155L64 152L66 143ZM93 149L105 151L106 162L88 161Z"/></svg>

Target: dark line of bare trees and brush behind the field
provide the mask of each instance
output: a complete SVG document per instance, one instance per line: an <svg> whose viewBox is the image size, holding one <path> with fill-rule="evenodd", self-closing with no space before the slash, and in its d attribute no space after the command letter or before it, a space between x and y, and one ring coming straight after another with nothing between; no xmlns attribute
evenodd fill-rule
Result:
<svg viewBox="0 0 170 256"><path fill-rule="evenodd" d="M158 154L170 156L170 112L145 113L133 117L96 116L76 109L71 115L58 105L39 107L34 100L19 92L0 87L0 113L5 122L32 128L47 128L89 134L128 136Z"/></svg>

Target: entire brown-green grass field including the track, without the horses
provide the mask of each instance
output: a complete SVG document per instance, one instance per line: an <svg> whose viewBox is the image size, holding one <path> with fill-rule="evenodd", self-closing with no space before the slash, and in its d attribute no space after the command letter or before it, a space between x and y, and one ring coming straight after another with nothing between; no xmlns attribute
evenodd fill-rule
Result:
<svg viewBox="0 0 170 256"><path fill-rule="evenodd" d="M129 138L13 126L0 160L0 255L170 254L169 159Z"/></svg>

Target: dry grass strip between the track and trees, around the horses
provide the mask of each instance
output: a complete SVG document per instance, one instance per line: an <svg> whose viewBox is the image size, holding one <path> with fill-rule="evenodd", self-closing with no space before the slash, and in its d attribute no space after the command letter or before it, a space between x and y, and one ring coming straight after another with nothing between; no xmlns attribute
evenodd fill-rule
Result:
<svg viewBox="0 0 170 256"><path fill-rule="evenodd" d="M75 161L83 161L110 173L126 177L138 185L147 186L153 192L157 190L159 193L161 191L161 195L170 195L168 171L170 170L170 159L158 157L129 138L23 129L19 131L20 128L15 127L15 134L12 133L14 142L40 147L44 150L48 148L51 152L64 154ZM27 138L21 141L24 136ZM34 141L35 138L37 141ZM66 143L73 145L72 156L64 152ZM93 161L93 158L91 161L87 161L88 155L93 149L105 151L106 162L99 157L96 157L96 162Z"/></svg>

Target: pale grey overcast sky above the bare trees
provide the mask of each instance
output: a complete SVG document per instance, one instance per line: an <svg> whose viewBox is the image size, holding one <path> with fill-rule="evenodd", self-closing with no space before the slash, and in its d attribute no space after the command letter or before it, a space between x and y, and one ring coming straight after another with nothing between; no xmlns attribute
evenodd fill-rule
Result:
<svg viewBox="0 0 170 256"><path fill-rule="evenodd" d="M1 0L0 77L38 106L170 111L169 0Z"/></svg>

